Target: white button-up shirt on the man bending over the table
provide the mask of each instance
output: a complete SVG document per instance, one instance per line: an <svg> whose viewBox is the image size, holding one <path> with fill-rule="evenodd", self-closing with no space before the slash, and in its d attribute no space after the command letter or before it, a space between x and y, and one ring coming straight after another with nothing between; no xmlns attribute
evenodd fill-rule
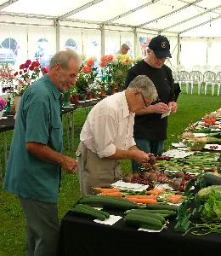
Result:
<svg viewBox="0 0 221 256"><path fill-rule="evenodd" d="M88 114L80 140L100 158L136 145L133 139L134 113L130 113L125 91L97 103Z"/></svg>

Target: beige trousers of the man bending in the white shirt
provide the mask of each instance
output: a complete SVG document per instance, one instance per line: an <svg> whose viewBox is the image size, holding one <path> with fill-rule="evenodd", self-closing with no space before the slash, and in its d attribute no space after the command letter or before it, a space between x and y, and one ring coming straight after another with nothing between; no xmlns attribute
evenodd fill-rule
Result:
<svg viewBox="0 0 221 256"><path fill-rule="evenodd" d="M121 161L99 158L80 143L77 149L77 173L82 196L94 194L95 187L109 187L122 178Z"/></svg>

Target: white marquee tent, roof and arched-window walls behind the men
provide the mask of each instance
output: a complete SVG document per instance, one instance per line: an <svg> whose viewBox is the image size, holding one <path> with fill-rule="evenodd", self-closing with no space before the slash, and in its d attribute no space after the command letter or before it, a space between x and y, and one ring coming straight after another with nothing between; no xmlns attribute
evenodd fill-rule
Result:
<svg viewBox="0 0 221 256"><path fill-rule="evenodd" d="M171 42L171 66L221 64L221 0L0 0L0 61L14 63L71 47L115 54L121 44L144 55L150 38Z"/></svg>

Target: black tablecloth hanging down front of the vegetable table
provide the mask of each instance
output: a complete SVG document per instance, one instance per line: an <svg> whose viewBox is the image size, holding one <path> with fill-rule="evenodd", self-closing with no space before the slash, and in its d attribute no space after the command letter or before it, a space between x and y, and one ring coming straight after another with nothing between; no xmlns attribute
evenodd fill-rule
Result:
<svg viewBox="0 0 221 256"><path fill-rule="evenodd" d="M112 212L123 215L123 212ZM120 219L110 226L67 212L60 225L59 256L212 255L221 252L221 234L194 236L167 230L148 233ZM217 254L216 253L216 254Z"/></svg>

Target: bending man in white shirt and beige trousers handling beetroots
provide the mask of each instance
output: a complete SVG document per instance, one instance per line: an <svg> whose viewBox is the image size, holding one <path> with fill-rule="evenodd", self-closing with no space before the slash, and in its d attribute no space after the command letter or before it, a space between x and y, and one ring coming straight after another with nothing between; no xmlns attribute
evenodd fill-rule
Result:
<svg viewBox="0 0 221 256"><path fill-rule="evenodd" d="M121 179L120 160L134 160L145 166L149 154L139 150L133 139L134 113L156 101L151 80L137 76L127 90L99 102L88 114L77 149L77 172L82 195L94 187L108 187Z"/></svg>

